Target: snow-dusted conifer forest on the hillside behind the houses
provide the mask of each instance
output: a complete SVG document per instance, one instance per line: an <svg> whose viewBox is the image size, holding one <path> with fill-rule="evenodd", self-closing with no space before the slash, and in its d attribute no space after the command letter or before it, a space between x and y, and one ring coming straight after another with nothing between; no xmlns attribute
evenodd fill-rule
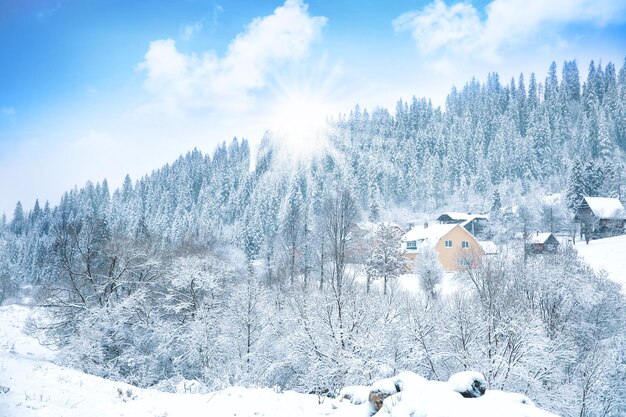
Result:
<svg viewBox="0 0 626 417"><path fill-rule="evenodd" d="M416 98L399 101L393 115L357 106L333 123L328 140L322 155L293 170L280 168L270 134L256 161L246 140L211 156L194 150L134 183L127 177L112 194L105 180L66 193L52 209L37 203L26 214L18 203L2 228L36 240L51 224L99 218L111 233L149 235L162 247L226 242L259 255L273 244L288 198L319 213L329 189L351 190L374 220L398 207L485 212L496 190L504 206L532 193L567 192L570 207L583 194L622 196L626 62L619 71L591 62L585 82L576 62L564 63L560 80L553 63L544 83L522 74L503 85L490 74L485 84L453 89L443 110Z"/></svg>

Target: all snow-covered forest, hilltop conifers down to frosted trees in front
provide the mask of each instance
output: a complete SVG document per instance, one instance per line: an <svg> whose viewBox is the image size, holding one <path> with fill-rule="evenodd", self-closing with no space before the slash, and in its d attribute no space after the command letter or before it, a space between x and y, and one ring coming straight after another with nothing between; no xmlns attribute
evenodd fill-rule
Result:
<svg viewBox="0 0 626 417"><path fill-rule="evenodd" d="M306 158L268 132L258 151L234 139L118 190L17 203L0 222L0 302L28 292L64 364L141 387L336 394L402 370L479 370L561 415L624 415L626 300L575 250L527 258L510 244L457 274L453 294L415 294L381 255L398 244L385 223L352 232L461 210L491 213L513 242L572 230L582 195L623 200L626 61L588 68L585 80L574 61L543 81L489 74L444 108L356 106Z"/></svg>

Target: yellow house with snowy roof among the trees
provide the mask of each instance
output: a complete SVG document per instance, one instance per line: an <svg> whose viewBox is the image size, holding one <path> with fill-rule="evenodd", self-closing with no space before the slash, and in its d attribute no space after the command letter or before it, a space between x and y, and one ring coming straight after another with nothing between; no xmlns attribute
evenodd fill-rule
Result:
<svg viewBox="0 0 626 417"><path fill-rule="evenodd" d="M446 272L461 271L480 265L485 254L480 243L459 224L434 224L411 229L402 238L404 256L409 259L431 247Z"/></svg>

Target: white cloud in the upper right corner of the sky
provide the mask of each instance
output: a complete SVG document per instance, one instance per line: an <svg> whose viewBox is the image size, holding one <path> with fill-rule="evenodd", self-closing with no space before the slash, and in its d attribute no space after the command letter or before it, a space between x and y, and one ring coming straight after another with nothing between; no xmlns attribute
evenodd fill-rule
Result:
<svg viewBox="0 0 626 417"><path fill-rule="evenodd" d="M599 27L623 21L620 0L493 0L486 17L468 3L446 5L435 0L421 10L393 21L396 31L410 31L424 53L452 52L497 60L503 49L519 46L541 34L558 33L567 24Z"/></svg>

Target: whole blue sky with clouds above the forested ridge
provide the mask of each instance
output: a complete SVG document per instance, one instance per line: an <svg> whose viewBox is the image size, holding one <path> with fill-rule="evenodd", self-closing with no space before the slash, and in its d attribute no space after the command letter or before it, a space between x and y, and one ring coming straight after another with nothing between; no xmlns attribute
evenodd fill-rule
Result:
<svg viewBox="0 0 626 417"><path fill-rule="evenodd" d="M620 0L0 0L0 213L307 114L621 67L625 46Z"/></svg>

